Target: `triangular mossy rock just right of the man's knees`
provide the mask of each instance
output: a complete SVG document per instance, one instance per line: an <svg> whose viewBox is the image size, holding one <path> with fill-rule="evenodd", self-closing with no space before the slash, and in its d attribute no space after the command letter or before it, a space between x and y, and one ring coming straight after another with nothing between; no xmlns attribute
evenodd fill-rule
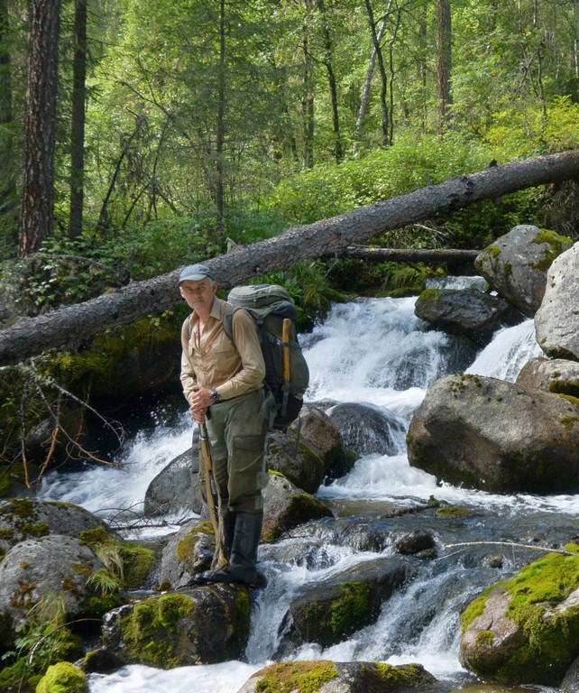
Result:
<svg viewBox="0 0 579 693"><path fill-rule="evenodd" d="M332 511L284 476L270 474L263 492L262 541L275 541L308 520L331 517Z"/></svg>

